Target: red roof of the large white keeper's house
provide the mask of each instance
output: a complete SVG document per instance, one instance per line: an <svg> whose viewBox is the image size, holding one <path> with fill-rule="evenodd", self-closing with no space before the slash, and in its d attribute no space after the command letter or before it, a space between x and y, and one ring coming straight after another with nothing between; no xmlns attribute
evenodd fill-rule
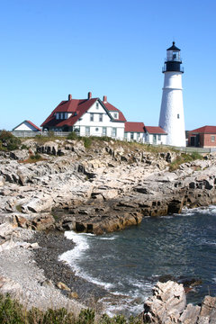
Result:
<svg viewBox="0 0 216 324"><path fill-rule="evenodd" d="M73 126L76 121L79 120L79 118L82 117L82 115L88 111L88 109L97 101L99 98L91 98L91 99L71 99L68 101L62 101L58 104L58 106L53 110L53 112L50 113L49 117L46 119L46 121L43 121L41 124L42 127L47 126L56 126L56 127L63 127L63 126ZM101 102L104 105L104 108L109 112L111 110L115 110L119 112L119 119L113 120L113 121L126 121L121 111L119 111L117 108L112 106L111 103L104 103ZM108 108L108 107L110 108ZM114 108L114 109L111 109ZM57 120L55 113L56 112L69 112L72 113L72 115L65 119L65 120ZM75 113L76 112L76 113Z"/></svg>

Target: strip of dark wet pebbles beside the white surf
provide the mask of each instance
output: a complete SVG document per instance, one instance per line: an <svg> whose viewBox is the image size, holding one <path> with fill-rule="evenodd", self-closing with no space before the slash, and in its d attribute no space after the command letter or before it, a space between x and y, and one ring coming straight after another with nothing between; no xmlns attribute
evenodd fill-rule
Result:
<svg viewBox="0 0 216 324"><path fill-rule="evenodd" d="M46 278L52 281L55 286L58 282L66 284L72 293L77 294L76 301L81 302L84 307L93 308L98 312L103 311L103 305L98 301L103 297L110 297L111 294L97 284L79 277L67 263L58 259L64 252L75 247L73 240L67 239L64 233L56 230L47 233L35 231L34 239L31 239L30 243L35 239L41 248L33 251L34 260L43 270ZM66 296L68 294L64 290L61 293Z"/></svg>

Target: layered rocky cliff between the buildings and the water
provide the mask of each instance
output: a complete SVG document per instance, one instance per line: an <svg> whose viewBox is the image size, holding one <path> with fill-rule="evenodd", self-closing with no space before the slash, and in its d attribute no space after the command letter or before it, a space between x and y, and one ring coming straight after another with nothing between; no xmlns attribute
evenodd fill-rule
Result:
<svg viewBox="0 0 216 324"><path fill-rule="evenodd" d="M171 172L180 153L114 141L95 141L91 148L58 139L44 144L29 139L23 145L28 149L0 157L1 215L23 228L101 234L145 216L216 202L214 157ZM30 158L34 153L42 158Z"/></svg>

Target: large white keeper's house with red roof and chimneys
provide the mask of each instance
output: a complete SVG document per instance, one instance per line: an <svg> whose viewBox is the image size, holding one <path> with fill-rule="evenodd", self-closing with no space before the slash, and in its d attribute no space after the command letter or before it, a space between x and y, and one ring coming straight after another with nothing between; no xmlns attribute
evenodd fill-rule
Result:
<svg viewBox="0 0 216 324"><path fill-rule="evenodd" d="M107 102L92 98L62 101L41 124L43 130L75 131L80 136L109 136L113 139L124 139L124 123L122 112Z"/></svg>

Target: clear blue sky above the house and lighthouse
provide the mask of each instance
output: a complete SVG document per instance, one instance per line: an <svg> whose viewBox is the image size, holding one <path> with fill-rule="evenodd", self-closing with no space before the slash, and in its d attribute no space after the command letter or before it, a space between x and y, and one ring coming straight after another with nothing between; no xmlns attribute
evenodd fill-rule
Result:
<svg viewBox="0 0 216 324"><path fill-rule="evenodd" d="M216 125L215 0L0 0L0 129L40 126L68 94L89 91L157 126L173 40L186 130Z"/></svg>

